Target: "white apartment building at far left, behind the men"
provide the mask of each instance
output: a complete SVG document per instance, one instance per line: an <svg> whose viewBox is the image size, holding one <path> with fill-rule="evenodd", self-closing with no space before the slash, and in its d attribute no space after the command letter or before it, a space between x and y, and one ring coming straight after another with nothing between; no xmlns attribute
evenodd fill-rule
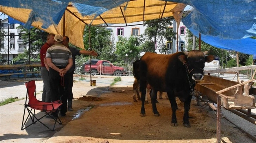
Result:
<svg viewBox="0 0 256 143"><path fill-rule="evenodd" d="M24 53L26 45L23 44L22 33L20 33L20 29L17 29L18 26L19 24L8 24L8 18L1 20L1 30L7 34L4 36L4 40L0 41L1 60L11 61L19 53Z"/></svg>

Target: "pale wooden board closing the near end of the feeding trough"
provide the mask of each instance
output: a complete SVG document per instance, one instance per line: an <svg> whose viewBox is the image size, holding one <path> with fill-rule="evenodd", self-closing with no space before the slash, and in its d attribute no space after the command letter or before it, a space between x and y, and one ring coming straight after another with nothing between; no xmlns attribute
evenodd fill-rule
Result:
<svg viewBox="0 0 256 143"><path fill-rule="evenodd" d="M235 100L234 105L235 106L254 106L255 105L255 97L251 95L241 95L241 94L234 94Z"/></svg>

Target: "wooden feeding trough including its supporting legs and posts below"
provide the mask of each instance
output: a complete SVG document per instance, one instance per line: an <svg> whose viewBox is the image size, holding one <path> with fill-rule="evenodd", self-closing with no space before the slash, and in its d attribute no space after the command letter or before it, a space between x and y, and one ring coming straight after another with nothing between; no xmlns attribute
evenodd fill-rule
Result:
<svg viewBox="0 0 256 143"><path fill-rule="evenodd" d="M205 75L203 80L196 84L195 90L202 96L207 96L209 100L217 103L217 142L220 143L220 118L221 105L232 113L256 124L256 119L251 117L251 109L255 109L255 97L249 95L249 84L256 79L246 82L234 82L219 77ZM197 94L197 95L199 95ZM247 116L237 110L247 109ZM252 138L256 141L256 138Z"/></svg>

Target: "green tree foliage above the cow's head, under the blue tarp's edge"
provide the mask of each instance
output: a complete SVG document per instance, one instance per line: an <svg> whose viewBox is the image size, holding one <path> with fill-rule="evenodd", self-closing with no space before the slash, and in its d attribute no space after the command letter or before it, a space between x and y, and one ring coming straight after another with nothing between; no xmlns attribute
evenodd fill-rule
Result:
<svg viewBox="0 0 256 143"><path fill-rule="evenodd" d="M185 39L187 40L187 44L185 45L185 48L190 51L193 47L193 33L191 33L188 29L186 29L187 35L185 36ZM199 38L196 37L196 43L195 43L196 49L199 47ZM216 48L214 46L211 46L201 40L201 50L207 51L212 49L211 55L219 56L220 57L220 64L225 63L226 56L228 59L230 59L230 56L227 52L227 50ZM222 65L221 65L222 66Z"/></svg>

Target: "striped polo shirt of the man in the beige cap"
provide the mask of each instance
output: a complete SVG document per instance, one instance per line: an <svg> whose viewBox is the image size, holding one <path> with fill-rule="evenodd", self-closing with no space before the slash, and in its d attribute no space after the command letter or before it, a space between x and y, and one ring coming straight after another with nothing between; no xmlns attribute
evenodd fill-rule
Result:
<svg viewBox="0 0 256 143"><path fill-rule="evenodd" d="M45 58L51 58L51 62L56 67L66 67L68 64L68 59L72 59L72 53L61 43L56 43L47 49Z"/></svg>

